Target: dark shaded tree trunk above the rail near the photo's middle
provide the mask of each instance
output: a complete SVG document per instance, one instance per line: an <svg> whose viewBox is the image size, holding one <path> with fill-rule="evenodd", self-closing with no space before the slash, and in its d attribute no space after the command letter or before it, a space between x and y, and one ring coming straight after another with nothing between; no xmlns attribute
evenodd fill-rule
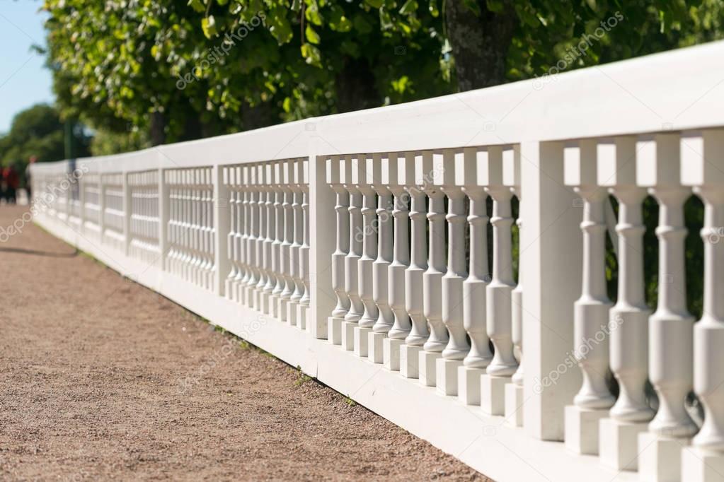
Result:
<svg viewBox="0 0 724 482"><path fill-rule="evenodd" d="M345 65L335 79L337 111L359 111L382 106L374 74L366 59L345 58Z"/></svg>

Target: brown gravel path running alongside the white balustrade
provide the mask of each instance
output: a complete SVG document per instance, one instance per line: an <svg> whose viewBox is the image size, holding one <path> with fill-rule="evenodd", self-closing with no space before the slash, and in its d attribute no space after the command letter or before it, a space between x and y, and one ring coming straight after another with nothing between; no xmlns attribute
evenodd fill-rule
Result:
<svg viewBox="0 0 724 482"><path fill-rule="evenodd" d="M0 480L489 480L35 225L0 279Z"/></svg>

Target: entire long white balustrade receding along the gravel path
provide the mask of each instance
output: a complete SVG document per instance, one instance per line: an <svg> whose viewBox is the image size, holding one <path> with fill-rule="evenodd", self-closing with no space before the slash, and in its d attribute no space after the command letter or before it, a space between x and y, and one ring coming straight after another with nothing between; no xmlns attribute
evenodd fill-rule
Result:
<svg viewBox="0 0 724 482"><path fill-rule="evenodd" d="M724 480L722 56L33 165L36 220L496 480Z"/></svg>

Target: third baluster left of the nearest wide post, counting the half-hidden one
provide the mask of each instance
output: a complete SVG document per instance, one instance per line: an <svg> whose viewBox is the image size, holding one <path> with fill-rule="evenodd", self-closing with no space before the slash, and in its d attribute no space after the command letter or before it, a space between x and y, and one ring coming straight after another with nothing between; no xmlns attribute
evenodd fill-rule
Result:
<svg viewBox="0 0 724 482"><path fill-rule="evenodd" d="M470 337L471 347L463 359L463 366L458 369L458 398L466 405L480 405L480 377L493 358L485 326L485 293L490 283L488 196L478 178L478 164L486 154L474 147L463 151L463 191L470 199L470 273L463 283L463 326Z"/></svg>

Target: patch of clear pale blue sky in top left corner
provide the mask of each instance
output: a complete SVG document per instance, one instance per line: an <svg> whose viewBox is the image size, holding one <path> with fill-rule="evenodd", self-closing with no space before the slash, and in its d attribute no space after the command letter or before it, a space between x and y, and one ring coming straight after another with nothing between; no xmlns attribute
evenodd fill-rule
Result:
<svg viewBox="0 0 724 482"><path fill-rule="evenodd" d="M44 59L30 46L45 46L43 20L38 0L0 0L0 133L7 132L19 111L46 102L53 103L51 73Z"/></svg>

